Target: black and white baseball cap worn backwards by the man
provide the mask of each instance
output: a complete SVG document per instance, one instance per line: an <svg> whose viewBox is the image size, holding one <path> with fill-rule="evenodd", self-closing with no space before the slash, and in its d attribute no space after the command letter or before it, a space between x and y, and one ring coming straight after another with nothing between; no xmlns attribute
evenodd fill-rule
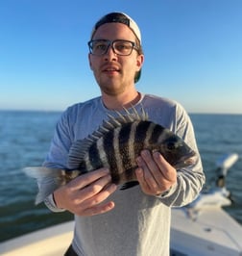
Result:
<svg viewBox="0 0 242 256"><path fill-rule="evenodd" d="M91 38L93 38L96 30L106 24L106 23L112 23L112 22L116 22L116 23L122 23L127 25L132 31L133 34L136 36L136 38L138 38L140 44L141 44L141 33L140 30L136 24L136 22L133 20L132 17L130 17L129 15L127 15L126 13L108 13L106 15L104 15L101 19L99 19L97 21L97 23L95 24L92 32L91 32Z"/></svg>

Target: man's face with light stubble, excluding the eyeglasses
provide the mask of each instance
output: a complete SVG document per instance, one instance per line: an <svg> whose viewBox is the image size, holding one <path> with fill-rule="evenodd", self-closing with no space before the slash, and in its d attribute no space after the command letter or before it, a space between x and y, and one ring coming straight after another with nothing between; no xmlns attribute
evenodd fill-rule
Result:
<svg viewBox="0 0 242 256"><path fill-rule="evenodd" d="M100 26L92 39L124 39L135 42L133 31L121 23L107 23ZM118 95L129 90L134 84L134 75L141 68L143 55L137 51L129 56L119 56L109 47L106 54L89 54L89 64L100 89L109 95Z"/></svg>

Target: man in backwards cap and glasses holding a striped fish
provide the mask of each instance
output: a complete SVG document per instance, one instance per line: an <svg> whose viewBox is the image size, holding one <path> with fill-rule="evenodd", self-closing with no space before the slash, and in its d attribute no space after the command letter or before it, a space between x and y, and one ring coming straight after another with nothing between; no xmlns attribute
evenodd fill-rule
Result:
<svg viewBox="0 0 242 256"><path fill-rule="evenodd" d="M132 106L178 134L198 152L188 115L177 102L135 89L144 55L140 31L124 13L109 13L94 26L88 58L101 96L68 108L60 118L44 166L67 167L71 144L95 131L107 115ZM45 199L54 212L75 214L75 233L66 255L169 255L172 206L191 202L205 176L198 153L192 167L176 170L157 152L136 159L139 186L126 191L111 184L109 169L86 173ZM54 183L42 180L39 190Z"/></svg>

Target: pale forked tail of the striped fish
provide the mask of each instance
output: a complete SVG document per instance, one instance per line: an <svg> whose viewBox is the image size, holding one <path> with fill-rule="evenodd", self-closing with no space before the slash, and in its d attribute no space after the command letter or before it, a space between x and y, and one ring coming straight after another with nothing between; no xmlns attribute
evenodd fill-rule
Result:
<svg viewBox="0 0 242 256"><path fill-rule="evenodd" d="M27 176L35 178L36 180L45 180L44 187L39 188L39 192L36 195L36 204L44 201L48 195L53 193L60 186L67 184L79 175L79 171L77 170L68 171L60 168L43 166L25 167L23 168L23 171Z"/></svg>

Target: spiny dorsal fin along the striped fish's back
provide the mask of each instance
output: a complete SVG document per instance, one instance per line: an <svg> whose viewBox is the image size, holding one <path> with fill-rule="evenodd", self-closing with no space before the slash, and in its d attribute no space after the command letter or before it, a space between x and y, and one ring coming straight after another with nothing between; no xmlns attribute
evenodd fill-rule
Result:
<svg viewBox="0 0 242 256"><path fill-rule="evenodd" d="M68 165L71 168L76 168L85 159L85 154L88 152L90 146L98 141L100 138L104 137L109 131L114 130L126 123L131 123L134 121L148 120L148 115L141 108L141 114L138 114L137 110L133 107L132 111L124 108L127 115L123 115L118 111L115 111L117 116L108 115L109 119L104 120L103 124L92 134L88 135L84 140L74 141L70 147Z"/></svg>

